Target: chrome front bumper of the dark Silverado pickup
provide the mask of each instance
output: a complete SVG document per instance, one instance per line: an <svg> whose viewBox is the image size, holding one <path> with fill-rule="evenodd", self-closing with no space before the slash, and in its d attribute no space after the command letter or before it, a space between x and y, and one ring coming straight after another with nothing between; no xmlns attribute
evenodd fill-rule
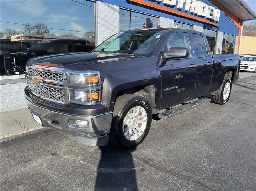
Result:
<svg viewBox="0 0 256 191"><path fill-rule="evenodd" d="M91 146L105 146L108 144L112 112L94 116L78 116L67 113L50 111L33 104L33 100L25 96L31 112L40 117L44 127L53 128L66 134L70 139ZM69 125L68 119L87 120L88 128L74 128ZM56 123L58 122L58 123Z"/></svg>

